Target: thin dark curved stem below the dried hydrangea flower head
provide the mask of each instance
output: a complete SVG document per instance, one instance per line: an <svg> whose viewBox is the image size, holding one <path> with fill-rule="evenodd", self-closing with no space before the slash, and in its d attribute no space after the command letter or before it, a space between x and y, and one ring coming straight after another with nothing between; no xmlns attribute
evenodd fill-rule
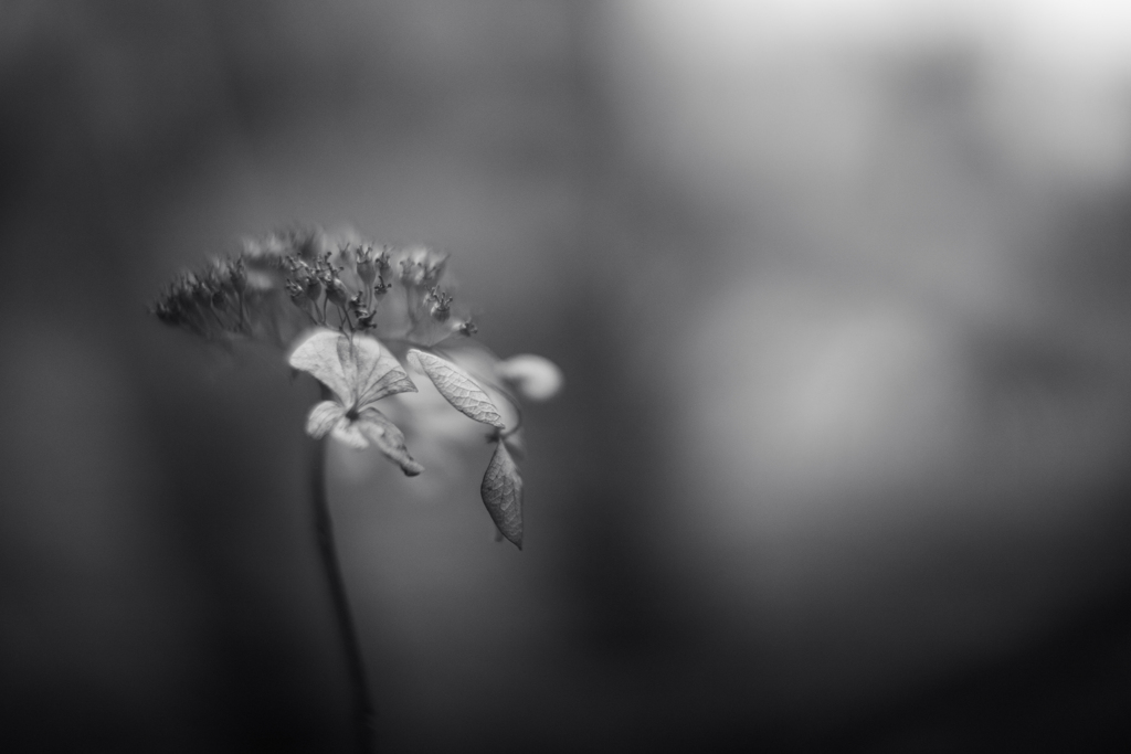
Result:
<svg viewBox="0 0 1131 754"><path fill-rule="evenodd" d="M337 548L334 545L334 522L330 519L330 508L326 495L326 441L314 442L313 448L311 493L314 497L314 531L318 535L318 551L322 556L326 583L330 591L330 601L334 604L334 615L337 618L338 630L342 633L342 649L345 652L349 685L353 688L354 737L357 751L370 754L373 751L373 702L369 693L369 683L365 679L365 664L362 660L361 644L357 642L357 631L349 610L349 599L346 597L345 581L342 579Z"/></svg>

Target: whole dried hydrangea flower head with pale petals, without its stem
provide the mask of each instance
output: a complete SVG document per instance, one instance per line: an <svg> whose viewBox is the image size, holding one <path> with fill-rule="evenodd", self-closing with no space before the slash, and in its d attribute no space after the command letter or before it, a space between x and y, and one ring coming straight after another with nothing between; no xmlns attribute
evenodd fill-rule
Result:
<svg viewBox="0 0 1131 754"><path fill-rule="evenodd" d="M182 274L153 312L208 340L283 349L292 367L322 385L307 433L355 449L373 445L408 476L424 468L380 401L416 392L406 365L425 376L495 444L480 492L499 532L521 548L519 398L552 397L561 372L538 356L500 359L474 339L477 328L456 303L447 254L378 245L352 232L292 229L245 241L239 253ZM510 404L510 426L498 400Z"/></svg>

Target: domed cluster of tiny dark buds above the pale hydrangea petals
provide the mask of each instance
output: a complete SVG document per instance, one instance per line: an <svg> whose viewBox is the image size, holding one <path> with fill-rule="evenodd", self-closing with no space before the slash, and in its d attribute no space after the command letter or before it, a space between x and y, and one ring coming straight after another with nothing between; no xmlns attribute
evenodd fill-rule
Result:
<svg viewBox="0 0 1131 754"><path fill-rule="evenodd" d="M231 259L184 272L154 314L210 340L260 339L286 347L310 326L431 345L475 323L456 317L447 254L374 245L353 233L293 229L247 241Z"/></svg>

